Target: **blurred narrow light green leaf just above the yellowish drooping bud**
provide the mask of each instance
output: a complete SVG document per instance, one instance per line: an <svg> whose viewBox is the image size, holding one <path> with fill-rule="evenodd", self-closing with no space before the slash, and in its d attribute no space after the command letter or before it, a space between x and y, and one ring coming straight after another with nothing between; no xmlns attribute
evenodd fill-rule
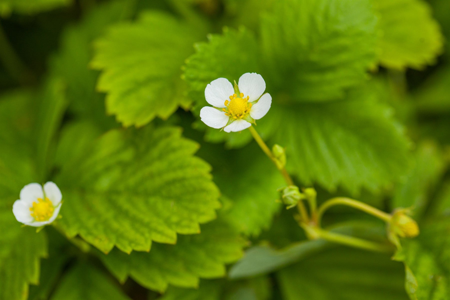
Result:
<svg viewBox="0 0 450 300"><path fill-rule="evenodd" d="M444 157L437 145L432 142L420 144L415 153L415 166L401 186L396 188L392 206L411 207L414 218L419 219L427 208L429 193L434 190L444 171Z"/></svg>

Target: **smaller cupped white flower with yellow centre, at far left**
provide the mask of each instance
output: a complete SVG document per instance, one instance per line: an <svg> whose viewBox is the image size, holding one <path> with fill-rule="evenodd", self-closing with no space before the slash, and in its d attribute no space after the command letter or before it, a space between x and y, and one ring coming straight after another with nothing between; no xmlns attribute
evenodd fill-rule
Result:
<svg viewBox="0 0 450 300"><path fill-rule="evenodd" d="M27 184L20 191L20 199L13 204L13 214L25 225L40 227L56 219L63 195L58 186L49 181L44 184Z"/></svg>

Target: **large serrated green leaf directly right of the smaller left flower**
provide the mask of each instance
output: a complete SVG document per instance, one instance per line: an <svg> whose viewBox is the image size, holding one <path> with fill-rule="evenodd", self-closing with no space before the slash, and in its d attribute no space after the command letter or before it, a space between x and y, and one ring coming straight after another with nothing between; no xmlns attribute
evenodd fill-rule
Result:
<svg viewBox="0 0 450 300"><path fill-rule="evenodd" d="M197 149L178 128L109 131L67 157L56 178L61 227L106 253L113 246L149 251L152 240L175 243L176 233L198 233L220 203L210 166L193 156Z"/></svg>

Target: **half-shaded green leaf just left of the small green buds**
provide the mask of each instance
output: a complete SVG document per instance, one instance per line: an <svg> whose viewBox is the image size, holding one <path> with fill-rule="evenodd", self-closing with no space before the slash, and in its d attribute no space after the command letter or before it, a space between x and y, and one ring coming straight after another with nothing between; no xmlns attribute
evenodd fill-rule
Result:
<svg viewBox="0 0 450 300"><path fill-rule="evenodd" d="M259 147L252 145L248 152L254 155L227 153L222 157L227 167L213 168L213 175L222 195L231 202L228 209L221 211L222 218L240 232L257 236L270 227L273 215L279 211L277 189L286 184Z"/></svg>

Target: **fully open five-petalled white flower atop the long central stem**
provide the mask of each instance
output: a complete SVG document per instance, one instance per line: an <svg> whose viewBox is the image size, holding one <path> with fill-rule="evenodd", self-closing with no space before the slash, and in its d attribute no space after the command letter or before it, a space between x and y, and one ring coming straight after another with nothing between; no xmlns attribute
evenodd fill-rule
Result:
<svg viewBox="0 0 450 300"><path fill-rule="evenodd" d="M200 110L203 123L225 132L241 131L261 119L272 104L270 94L264 93L266 82L257 73L245 73L238 81L239 94L226 78L217 78L206 86L205 98L213 107Z"/></svg>

